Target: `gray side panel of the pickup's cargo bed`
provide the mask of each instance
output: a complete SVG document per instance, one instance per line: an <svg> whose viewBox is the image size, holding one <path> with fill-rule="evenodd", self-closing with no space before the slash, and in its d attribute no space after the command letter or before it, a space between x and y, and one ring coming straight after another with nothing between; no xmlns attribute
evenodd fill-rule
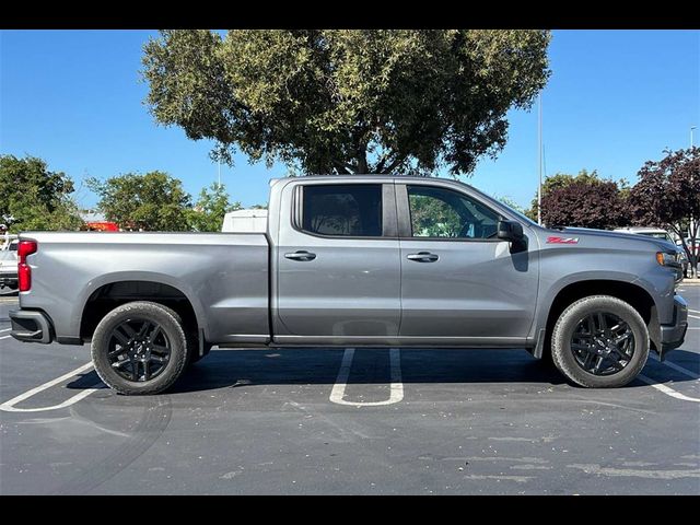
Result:
<svg viewBox="0 0 700 525"><path fill-rule="evenodd" d="M124 281L182 292L208 340L269 341L265 234L27 232L23 238L39 248L31 261L32 289L20 293L20 306L46 312L59 341L81 342L88 301Z"/></svg>

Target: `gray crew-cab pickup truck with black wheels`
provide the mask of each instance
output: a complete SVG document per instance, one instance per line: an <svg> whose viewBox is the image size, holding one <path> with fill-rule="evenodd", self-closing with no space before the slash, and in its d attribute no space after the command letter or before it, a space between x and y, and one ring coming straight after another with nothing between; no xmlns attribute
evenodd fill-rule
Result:
<svg viewBox="0 0 700 525"><path fill-rule="evenodd" d="M266 233L23 233L12 336L91 341L122 394L166 389L213 345L522 348L616 387L682 343L665 241L547 230L440 178L270 187Z"/></svg>

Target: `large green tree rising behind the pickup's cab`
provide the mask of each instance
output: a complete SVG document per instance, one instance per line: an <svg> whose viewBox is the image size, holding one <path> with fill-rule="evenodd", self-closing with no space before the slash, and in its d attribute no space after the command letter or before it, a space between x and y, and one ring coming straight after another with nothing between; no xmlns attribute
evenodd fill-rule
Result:
<svg viewBox="0 0 700 525"><path fill-rule="evenodd" d="M231 162L303 173L469 173L549 77L547 31L163 31L144 46L156 121Z"/></svg>

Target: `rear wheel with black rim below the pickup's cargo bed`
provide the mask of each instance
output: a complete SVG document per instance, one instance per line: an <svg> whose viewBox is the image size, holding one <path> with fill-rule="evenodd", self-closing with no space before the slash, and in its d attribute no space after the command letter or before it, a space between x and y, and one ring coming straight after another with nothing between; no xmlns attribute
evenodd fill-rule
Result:
<svg viewBox="0 0 700 525"><path fill-rule="evenodd" d="M128 342L120 342L128 338L128 332L125 331L127 324L131 330L133 328L130 324L136 324L137 327L139 324L160 327L154 341L164 345L156 346L154 342L154 349L150 350L143 337L139 337L138 340L141 342L136 345L138 350L129 350ZM153 332L154 330L151 330L151 334ZM156 354L155 348L167 349L167 352ZM153 354L153 359L158 358L161 361L155 366L149 361L147 366L147 363L137 359L138 357L131 359L128 355L143 351L145 359L147 353L142 349L148 350L148 357ZM182 319L171 308L158 303L136 301L122 304L105 315L93 334L91 352L97 375L110 388L128 396L158 394L170 388L183 374L187 364L187 337ZM148 370L152 371L154 368L158 371L150 377ZM143 370L143 380L139 377L140 370ZM125 375L131 377L127 378Z"/></svg>

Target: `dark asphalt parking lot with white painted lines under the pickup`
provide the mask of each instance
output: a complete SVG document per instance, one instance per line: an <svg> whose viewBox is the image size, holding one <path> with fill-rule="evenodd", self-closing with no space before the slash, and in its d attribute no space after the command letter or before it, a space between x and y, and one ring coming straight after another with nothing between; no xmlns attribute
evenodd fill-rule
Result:
<svg viewBox="0 0 700 525"><path fill-rule="evenodd" d="M610 390L524 350L217 350L175 389L8 337L0 493L700 493L700 287L666 363Z"/></svg>

